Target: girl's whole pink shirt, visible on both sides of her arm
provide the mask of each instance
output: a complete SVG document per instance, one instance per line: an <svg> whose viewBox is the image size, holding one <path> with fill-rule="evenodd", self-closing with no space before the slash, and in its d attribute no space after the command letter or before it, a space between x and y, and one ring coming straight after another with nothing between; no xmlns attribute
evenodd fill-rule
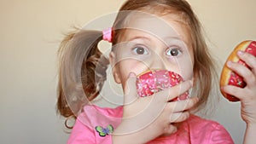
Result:
<svg viewBox="0 0 256 144"><path fill-rule="evenodd" d="M119 126L123 114L123 107L101 108L94 105L84 107L73 131L67 141L68 144L111 144L112 137L106 129L109 124L113 130ZM96 126L104 128L101 136ZM109 133L110 134L110 133ZM176 133L162 136L148 144L234 144L230 134L217 122L191 115L180 125Z"/></svg>

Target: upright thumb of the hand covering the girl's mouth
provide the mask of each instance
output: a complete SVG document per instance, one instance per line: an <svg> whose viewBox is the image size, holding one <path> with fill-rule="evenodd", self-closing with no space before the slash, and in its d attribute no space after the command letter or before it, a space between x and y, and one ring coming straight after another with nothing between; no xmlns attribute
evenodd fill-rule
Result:
<svg viewBox="0 0 256 144"><path fill-rule="evenodd" d="M138 95L137 95L136 81L137 81L136 74L134 72L131 72L125 82L125 89L124 89L125 105L130 104L133 101L136 101L138 98L137 97Z"/></svg>

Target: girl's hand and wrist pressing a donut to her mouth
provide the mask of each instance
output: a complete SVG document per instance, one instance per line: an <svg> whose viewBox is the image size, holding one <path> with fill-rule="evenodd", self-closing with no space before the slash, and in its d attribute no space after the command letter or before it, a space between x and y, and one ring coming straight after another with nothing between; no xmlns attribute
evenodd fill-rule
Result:
<svg viewBox="0 0 256 144"><path fill-rule="evenodd" d="M139 97L136 80L136 75L131 73L125 84L123 119L113 132L113 143L145 143L160 135L172 134L177 130L173 124L189 118L187 110L198 101L194 97L170 102L191 88L189 81L154 95Z"/></svg>

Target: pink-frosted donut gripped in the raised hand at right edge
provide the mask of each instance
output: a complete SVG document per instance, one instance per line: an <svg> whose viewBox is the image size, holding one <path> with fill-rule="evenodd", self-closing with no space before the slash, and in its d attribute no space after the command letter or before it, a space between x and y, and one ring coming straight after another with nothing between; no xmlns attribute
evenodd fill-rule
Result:
<svg viewBox="0 0 256 144"><path fill-rule="evenodd" d="M231 52L230 56L227 59L227 61L238 62L244 66L247 66L247 64L244 61L240 60L237 57L236 54L239 50L245 51L247 53L250 53L250 54L256 56L256 41L247 40L247 41L241 42ZM241 76L236 74L236 72L233 72L227 66L224 66L223 70L221 72L221 77L220 77L220 87L222 87L224 85L235 85L237 87L244 88L247 84L243 81L243 78L241 78ZM221 93L229 101L240 101L234 95L229 95L229 94L224 93L223 90L221 90Z"/></svg>

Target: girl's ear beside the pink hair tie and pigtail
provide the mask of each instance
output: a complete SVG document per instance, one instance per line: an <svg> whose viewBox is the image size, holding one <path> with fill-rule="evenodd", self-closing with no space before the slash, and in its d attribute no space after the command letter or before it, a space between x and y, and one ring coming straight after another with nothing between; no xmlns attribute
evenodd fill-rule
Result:
<svg viewBox="0 0 256 144"><path fill-rule="evenodd" d="M119 77L119 69L118 69L118 66L116 65L116 57L113 51L111 51L109 54L109 62L110 62L110 66L112 67L112 74L113 74L115 83L121 84L121 79Z"/></svg>

